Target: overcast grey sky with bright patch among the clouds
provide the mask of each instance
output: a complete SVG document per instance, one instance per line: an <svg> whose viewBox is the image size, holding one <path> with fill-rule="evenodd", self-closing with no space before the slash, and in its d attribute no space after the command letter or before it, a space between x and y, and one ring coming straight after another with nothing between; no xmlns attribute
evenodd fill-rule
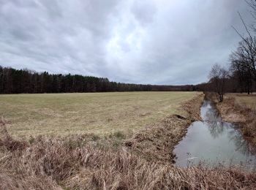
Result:
<svg viewBox="0 0 256 190"><path fill-rule="evenodd" d="M0 0L0 65L108 77L122 83L197 84L252 24L243 0Z"/></svg>

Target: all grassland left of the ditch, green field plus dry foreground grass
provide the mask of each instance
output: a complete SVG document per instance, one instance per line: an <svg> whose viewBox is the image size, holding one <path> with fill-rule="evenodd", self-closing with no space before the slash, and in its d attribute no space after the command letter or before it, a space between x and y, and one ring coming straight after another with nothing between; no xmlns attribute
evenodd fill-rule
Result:
<svg viewBox="0 0 256 190"><path fill-rule="evenodd" d="M202 101L188 92L1 95L0 189L255 189L253 172L171 164ZM117 146L99 137L115 132L134 135Z"/></svg>

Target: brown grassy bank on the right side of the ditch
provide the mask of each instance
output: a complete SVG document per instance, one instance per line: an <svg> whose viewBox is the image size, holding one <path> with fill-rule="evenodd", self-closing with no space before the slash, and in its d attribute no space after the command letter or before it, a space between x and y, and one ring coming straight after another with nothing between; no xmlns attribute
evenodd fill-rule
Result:
<svg viewBox="0 0 256 190"><path fill-rule="evenodd" d="M256 147L256 111L241 106L233 96L225 96L223 102L217 102L214 94L208 94L207 96L215 102L222 120L238 124L244 137Z"/></svg>

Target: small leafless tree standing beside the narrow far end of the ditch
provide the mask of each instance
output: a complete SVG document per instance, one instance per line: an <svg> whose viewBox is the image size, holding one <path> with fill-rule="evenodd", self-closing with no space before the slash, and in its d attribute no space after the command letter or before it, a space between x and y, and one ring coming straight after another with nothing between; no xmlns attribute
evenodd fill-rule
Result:
<svg viewBox="0 0 256 190"><path fill-rule="evenodd" d="M225 94L225 82L227 80L228 72L219 64L214 64L211 68L211 72L209 74L209 83L213 87L213 91L215 92L217 99L219 102L223 101L223 96Z"/></svg>

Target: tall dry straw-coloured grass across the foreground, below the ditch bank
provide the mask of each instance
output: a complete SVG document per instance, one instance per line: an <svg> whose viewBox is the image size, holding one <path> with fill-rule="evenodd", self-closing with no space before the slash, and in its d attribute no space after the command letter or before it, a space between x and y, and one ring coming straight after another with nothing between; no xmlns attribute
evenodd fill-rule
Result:
<svg viewBox="0 0 256 190"><path fill-rule="evenodd" d="M79 136L20 142L1 129L0 189L256 189L255 173L236 168L157 164L124 148L81 146Z"/></svg>

